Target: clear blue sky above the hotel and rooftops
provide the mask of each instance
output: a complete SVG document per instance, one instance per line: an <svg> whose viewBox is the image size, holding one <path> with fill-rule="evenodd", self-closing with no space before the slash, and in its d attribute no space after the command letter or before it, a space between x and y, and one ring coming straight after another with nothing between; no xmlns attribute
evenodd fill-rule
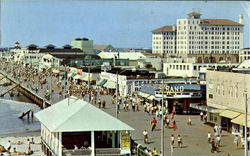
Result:
<svg viewBox="0 0 250 156"><path fill-rule="evenodd" d="M193 9L202 18L238 21L244 16L244 47L249 47L249 2L237 1L80 1L2 0L2 46L31 43L58 47L77 37L94 44L151 48L151 30L176 24Z"/></svg>

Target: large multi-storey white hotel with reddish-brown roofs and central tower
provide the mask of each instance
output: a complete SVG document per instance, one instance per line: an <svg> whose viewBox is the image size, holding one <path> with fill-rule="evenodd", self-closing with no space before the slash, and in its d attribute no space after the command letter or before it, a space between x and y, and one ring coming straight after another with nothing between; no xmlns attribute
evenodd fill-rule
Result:
<svg viewBox="0 0 250 156"><path fill-rule="evenodd" d="M239 22L228 19L202 19L192 12L177 25L152 31L153 53L164 56L196 57L199 63L238 62L243 48L243 16Z"/></svg>

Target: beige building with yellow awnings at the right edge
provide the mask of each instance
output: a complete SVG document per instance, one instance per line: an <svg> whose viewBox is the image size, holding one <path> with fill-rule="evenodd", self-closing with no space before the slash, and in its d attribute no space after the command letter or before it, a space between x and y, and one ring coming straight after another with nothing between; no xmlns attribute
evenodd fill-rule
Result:
<svg viewBox="0 0 250 156"><path fill-rule="evenodd" d="M250 75L207 71L206 79L207 106L217 109L216 113L208 112L208 121L222 125L233 134L243 135L245 96L247 93L249 99ZM250 111L249 107L247 111Z"/></svg>

